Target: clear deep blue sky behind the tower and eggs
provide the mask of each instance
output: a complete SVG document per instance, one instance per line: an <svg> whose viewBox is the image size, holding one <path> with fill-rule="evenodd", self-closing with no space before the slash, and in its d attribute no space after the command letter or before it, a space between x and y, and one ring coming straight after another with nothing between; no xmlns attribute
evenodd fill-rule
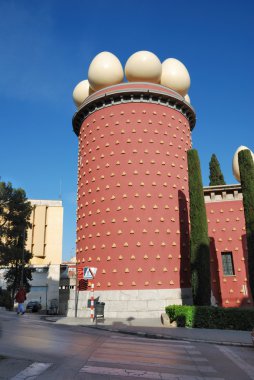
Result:
<svg viewBox="0 0 254 380"><path fill-rule="evenodd" d="M215 153L228 184L239 145L254 150L254 2L0 0L0 176L64 205L63 259L75 249L75 85L101 51L125 65L139 50L182 61L197 113L203 183Z"/></svg>

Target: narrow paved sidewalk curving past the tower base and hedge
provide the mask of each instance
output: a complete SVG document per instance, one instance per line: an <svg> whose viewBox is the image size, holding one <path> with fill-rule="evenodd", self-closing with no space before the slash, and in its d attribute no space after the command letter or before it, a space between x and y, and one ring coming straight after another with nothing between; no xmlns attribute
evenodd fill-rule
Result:
<svg viewBox="0 0 254 380"><path fill-rule="evenodd" d="M46 316L44 319L57 324L84 326L153 339L175 339L238 347L253 347L250 331L171 327L163 325L160 319L155 318L105 318L104 320L98 319L97 322L91 322L88 318L60 316Z"/></svg>

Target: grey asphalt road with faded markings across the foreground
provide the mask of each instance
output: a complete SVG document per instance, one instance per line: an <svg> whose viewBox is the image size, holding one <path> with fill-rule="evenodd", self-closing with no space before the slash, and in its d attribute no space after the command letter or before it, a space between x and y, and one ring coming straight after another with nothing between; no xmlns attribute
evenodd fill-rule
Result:
<svg viewBox="0 0 254 380"><path fill-rule="evenodd" d="M254 349L147 339L0 313L0 379L254 380Z"/></svg>

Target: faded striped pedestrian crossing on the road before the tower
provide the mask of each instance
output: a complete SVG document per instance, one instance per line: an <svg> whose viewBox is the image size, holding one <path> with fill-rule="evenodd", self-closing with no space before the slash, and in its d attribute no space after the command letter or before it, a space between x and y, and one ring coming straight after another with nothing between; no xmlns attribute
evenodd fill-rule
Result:
<svg viewBox="0 0 254 380"><path fill-rule="evenodd" d="M93 352L80 372L114 376L116 379L224 380L196 350L196 346L188 341L121 337L115 334Z"/></svg>

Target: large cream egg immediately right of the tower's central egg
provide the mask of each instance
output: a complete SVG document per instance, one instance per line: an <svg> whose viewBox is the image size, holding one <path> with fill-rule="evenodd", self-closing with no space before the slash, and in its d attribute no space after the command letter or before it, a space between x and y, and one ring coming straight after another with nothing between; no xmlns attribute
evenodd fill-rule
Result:
<svg viewBox="0 0 254 380"><path fill-rule="evenodd" d="M190 88L190 75L178 59L168 58L162 63L161 84L185 96Z"/></svg>

